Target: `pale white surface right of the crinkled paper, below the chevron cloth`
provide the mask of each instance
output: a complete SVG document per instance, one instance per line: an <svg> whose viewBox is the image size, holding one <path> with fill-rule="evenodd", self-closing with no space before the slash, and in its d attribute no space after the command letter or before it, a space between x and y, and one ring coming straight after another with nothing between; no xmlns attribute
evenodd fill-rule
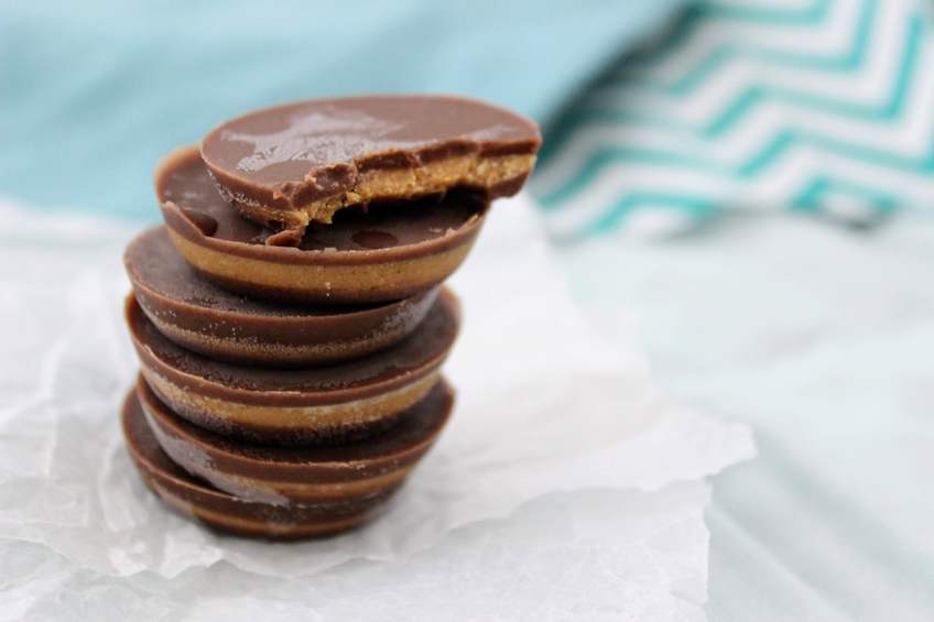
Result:
<svg viewBox="0 0 934 622"><path fill-rule="evenodd" d="M759 458L707 515L712 620L934 620L930 214L872 232L735 217L562 259L680 399L753 425Z"/></svg>

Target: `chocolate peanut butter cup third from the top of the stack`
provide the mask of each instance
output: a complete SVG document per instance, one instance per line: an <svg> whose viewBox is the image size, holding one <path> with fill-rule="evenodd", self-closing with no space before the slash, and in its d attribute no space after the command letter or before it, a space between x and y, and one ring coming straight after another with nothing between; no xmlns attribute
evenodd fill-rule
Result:
<svg viewBox="0 0 934 622"><path fill-rule="evenodd" d="M412 332L438 292L348 308L245 298L195 272L165 227L130 242L123 263L137 302L160 332L207 357L253 365L335 363L384 349Z"/></svg>

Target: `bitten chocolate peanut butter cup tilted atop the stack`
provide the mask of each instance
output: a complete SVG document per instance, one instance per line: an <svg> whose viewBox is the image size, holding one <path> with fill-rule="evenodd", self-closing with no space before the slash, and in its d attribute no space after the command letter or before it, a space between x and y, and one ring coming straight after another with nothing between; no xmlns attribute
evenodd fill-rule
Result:
<svg viewBox="0 0 934 622"><path fill-rule="evenodd" d="M383 95L251 112L213 130L200 154L245 217L287 229L455 187L513 195L541 140L533 121L481 101Z"/></svg>

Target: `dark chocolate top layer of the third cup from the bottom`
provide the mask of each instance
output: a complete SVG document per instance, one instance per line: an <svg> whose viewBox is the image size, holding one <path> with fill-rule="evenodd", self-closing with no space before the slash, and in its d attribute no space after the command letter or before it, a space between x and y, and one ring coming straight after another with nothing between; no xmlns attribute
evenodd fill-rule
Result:
<svg viewBox="0 0 934 622"><path fill-rule="evenodd" d="M439 363L457 336L459 309L456 298L443 292L419 329L392 348L339 364L289 370L224 363L180 348L156 329L132 297L127 304L127 324L141 356L151 356L194 382L256 393L271 403L276 395L328 394L380 385Z"/></svg>

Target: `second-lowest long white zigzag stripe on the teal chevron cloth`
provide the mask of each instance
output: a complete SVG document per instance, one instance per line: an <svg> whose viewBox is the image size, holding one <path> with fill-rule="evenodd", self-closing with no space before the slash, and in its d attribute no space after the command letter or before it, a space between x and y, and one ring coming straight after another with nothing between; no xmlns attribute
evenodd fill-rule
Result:
<svg viewBox="0 0 934 622"><path fill-rule="evenodd" d="M928 45L924 48L919 58L921 67L934 66L932 47ZM908 109L895 123L841 118L823 110L771 100L748 114L729 134L714 140L633 124L584 127L574 134L562 154L540 172L536 183L540 189L554 188L575 175L595 149L613 144L671 151L738 166L759 153L780 130L789 127L814 128L816 133L843 142L920 157L930 148L926 129L932 127L934 117L934 73L919 72L919 79L912 87L915 92L909 95ZM692 101L678 103L678 111L683 111L691 109Z"/></svg>

